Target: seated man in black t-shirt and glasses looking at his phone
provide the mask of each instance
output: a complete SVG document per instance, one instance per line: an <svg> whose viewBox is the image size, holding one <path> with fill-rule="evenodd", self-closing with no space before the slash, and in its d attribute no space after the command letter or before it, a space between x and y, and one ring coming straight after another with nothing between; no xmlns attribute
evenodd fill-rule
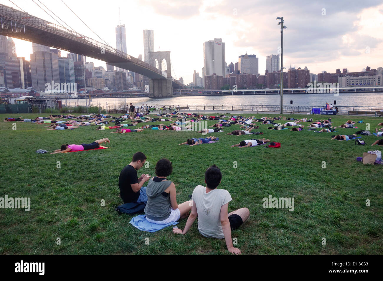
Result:
<svg viewBox="0 0 383 281"><path fill-rule="evenodd" d="M139 179L137 178L137 171L144 166L145 161L145 154L136 152L133 155L132 162L122 169L118 179L118 187L124 203L135 202L146 204L146 187L142 187L142 185L150 179L150 175L142 174Z"/></svg>

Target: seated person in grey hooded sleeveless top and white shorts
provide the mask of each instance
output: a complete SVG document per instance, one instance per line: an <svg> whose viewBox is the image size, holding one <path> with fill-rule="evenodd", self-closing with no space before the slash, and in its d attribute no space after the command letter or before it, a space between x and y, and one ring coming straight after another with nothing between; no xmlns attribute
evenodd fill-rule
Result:
<svg viewBox="0 0 383 281"><path fill-rule="evenodd" d="M189 216L189 201L177 204L175 185L167 179L172 174L172 162L162 158L155 164L155 177L147 183L146 220L149 223L168 224Z"/></svg>

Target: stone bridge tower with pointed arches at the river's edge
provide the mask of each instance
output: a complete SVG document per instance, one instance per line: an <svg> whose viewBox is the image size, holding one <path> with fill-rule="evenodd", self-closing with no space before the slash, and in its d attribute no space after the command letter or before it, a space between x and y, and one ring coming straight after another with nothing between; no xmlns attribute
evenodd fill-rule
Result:
<svg viewBox="0 0 383 281"><path fill-rule="evenodd" d="M166 79L149 79L149 97L172 97L172 65L170 64L170 52L149 52L149 62L157 59L158 71L162 74L162 60L166 62Z"/></svg>

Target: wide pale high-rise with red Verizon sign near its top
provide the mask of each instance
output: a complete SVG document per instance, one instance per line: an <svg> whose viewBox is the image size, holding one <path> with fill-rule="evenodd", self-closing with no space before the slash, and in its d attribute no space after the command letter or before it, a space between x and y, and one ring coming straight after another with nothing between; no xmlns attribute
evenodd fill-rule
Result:
<svg viewBox="0 0 383 281"><path fill-rule="evenodd" d="M213 73L225 76L225 43L221 38L203 43L203 67L203 78Z"/></svg>

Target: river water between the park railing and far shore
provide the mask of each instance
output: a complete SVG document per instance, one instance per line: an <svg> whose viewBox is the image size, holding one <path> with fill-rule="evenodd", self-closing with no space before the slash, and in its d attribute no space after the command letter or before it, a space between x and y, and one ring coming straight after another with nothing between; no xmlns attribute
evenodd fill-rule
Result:
<svg viewBox="0 0 383 281"><path fill-rule="evenodd" d="M283 94L283 105L290 105L293 101L295 106L324 106L326 102L337 106L378 106L383 107L383 92L378 93L339 93L334 94ZM63 100L65 103L65 100ZM134 97L134 98L92 98L93 106L119 107L132 102L138 107L142 104L148 106L183 106L192 104L242 104L242 105L279 105L280 95L237 95L237 96L177 96L165 98ZM85 99L71 99L67 101L69 106L85 106Z"/></svg>

